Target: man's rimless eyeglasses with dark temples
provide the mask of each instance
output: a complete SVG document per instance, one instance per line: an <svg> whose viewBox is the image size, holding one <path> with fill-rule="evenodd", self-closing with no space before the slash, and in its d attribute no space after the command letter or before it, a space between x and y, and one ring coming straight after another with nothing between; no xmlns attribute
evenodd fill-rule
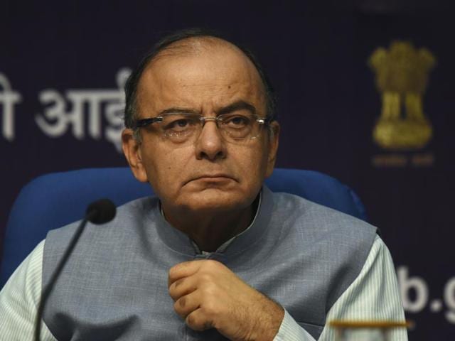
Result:
<svg viewBox="0 0 455 341"><path fill-rule="evenodd" d="M133 129L143 128L158 123L159 134L175 144L193 143L207 121L215 121L223 139L235 144L256 139L261 134L262 126L269 123L266 117L250 113L220 114L217 117L203 117L196 113L166 113L158 117L139 119Z"/></svg>

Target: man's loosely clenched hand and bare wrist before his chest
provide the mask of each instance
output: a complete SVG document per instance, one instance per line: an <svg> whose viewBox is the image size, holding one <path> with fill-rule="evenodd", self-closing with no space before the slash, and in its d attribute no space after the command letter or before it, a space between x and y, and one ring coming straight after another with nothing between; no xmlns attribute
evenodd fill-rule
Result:
<svg viewBox="0 0 455 341"><path fill-rule="evenodd" d="M284 309L218 261L186 261L169 270L176 313L193 330L216 328L230 340L273 340Z"/></svg>

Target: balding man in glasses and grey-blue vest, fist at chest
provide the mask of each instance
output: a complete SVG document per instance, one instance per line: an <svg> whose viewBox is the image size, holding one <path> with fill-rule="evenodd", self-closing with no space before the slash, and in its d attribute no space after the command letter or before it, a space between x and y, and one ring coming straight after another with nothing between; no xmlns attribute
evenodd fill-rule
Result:
<svg viewBox="0 0 455 341"><path fill-rule="evenodd" d="M263 186L279 124L252 55L183 31L156 45L126 93L124 154L159 199L85 230L43 340L332 340L329 320L404 319L374 227ZM30 339L75 226L50 232L1 292L4 340Z"/></svg>

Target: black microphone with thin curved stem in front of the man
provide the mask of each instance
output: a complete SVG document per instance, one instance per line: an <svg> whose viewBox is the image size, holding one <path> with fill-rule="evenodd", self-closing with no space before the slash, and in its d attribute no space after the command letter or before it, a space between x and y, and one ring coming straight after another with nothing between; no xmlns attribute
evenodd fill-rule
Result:
<svg viewBox="0 0 455 341"><path fill-rule="evenodd" d="M62 272L63 266L65 266L71 252L73 252L73 249L77 244L77 241L79 240L79 237L82 234L85 225L87 222L92 222L93 224L105 224L106 222L110 222L114 219L116 210L117 209L114 203L109 199L100 199L88 205L87 210L85 211L84 219L77 227L76 232L73 234L73 237L70 240L70 244L68 244L68 247L65 250L65 254L63 254L63 257L60 259L60 262L55 268L55 271L53 272L52 276L50 276L48 285L42 291L35 320L35 341L40 341L41 319L43 318L45 303L48 300L50 291L52 291L55 281L57 281L58 276L60 276L60 273Z"/></svg>

